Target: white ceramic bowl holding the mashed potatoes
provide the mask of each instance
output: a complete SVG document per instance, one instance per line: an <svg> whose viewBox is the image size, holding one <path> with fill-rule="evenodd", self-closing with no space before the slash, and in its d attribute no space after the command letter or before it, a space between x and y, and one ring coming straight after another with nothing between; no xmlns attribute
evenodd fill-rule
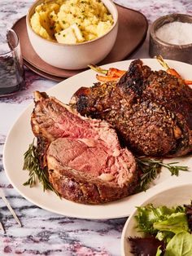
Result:
<svg viewBox="0 0 192 256"><path fill-rule="evenodd" d="M34 51L36 51L37 55L39 55L42 60L57 68L80 69L86 68L88 64L97 64L108 55L116 42L118 30L118 11L116 5L111 2L111 0L102 0L113 16L114 24L111 29L100 38L75 45L50 42L49 40L41 38L33 31L30 25L30 18L37 5L42 2L44 2L44 0L34 2L29 8L26 17L28 38Z"/></svg>

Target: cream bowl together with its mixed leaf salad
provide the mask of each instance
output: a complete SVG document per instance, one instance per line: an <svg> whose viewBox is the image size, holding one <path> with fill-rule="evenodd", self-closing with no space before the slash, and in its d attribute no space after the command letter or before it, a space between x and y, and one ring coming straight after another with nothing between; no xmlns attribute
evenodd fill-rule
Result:
<svg viewBox="0 0 192 256"><path fill-rule="evenodd" d="M124 225L122 256L192 255L192 182L137 205Z"/></svg>

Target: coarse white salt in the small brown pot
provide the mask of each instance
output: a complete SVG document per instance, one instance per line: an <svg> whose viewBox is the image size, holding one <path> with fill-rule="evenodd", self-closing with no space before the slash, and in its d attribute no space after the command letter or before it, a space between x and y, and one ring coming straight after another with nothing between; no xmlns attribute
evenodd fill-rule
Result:
<svg viewBox="0 0 192 256"><path fill-rule="evenodd" d="M164 42L175 45L192 43L192 23L173 21L156 31L156 36Z"/></svg>

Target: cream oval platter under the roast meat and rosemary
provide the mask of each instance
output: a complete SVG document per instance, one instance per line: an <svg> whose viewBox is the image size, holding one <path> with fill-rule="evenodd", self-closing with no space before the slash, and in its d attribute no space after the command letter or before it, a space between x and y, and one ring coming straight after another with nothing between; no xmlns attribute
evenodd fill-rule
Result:
<svg viewBox="0 0 192 256"><path fill-rule="evenodd" d="M165 61L170 67L175 68L181 73L182 77L192 80L192 65L173 60ZM149 65L153 70L162 68L155 59L144 59L143 62ZM124 60L104 65L103 68L114 67L127 69L130 63L131 60ZM50 88L47 94L55 96L63 103L68 104L76 90L81 86L92 86L94 82L97 82L95 72L93 70L86 70L85 72L78 73L76 76L69 77L63 82L59 82L58 85ZM164 162L179 162L180 166L188 166L189 172L181 171L179 177L172 176L172 180L166 183L168 179L171 179L171 174L168 170L163 168L159 177L154 180L151 184L151 188L146 192L140 192L132 196L124 197L121 200L102 205L82 205L66 199L61 200L54 192L43 192L41 184L37 184L34 188L24 187L23 183L28 179L28 171L22 170L24 165L24 152L28 149L29 143L33 142L34 137L30 124L33 107L34 105L30 104L11 127L7 135L2 156L7 177L10 179L14 188L28 199L28 201L33 202L33 204L43 209L76 218L122 218L128 216L135 209L135 206L140 205L147 196L153 195L153 193L159 191L160 188L168 188L170 184L176 184L181 178L185 178L185 174L190 175L190 179L192 179L192 157L185 156L165 159ZM189 179L189 176L187 176L187 179Z"/></svg>

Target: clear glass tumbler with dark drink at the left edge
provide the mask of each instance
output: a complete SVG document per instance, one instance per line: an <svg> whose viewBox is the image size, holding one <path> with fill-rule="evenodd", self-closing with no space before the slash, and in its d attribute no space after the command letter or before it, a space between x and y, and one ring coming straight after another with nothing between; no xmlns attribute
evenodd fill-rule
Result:
<svg viewBox="0 0 192 256"><path fill-rule="evenodd" d="M11 95L24 87L24 66L20 41L14 30L0 36L0 97Z"/></svg>

